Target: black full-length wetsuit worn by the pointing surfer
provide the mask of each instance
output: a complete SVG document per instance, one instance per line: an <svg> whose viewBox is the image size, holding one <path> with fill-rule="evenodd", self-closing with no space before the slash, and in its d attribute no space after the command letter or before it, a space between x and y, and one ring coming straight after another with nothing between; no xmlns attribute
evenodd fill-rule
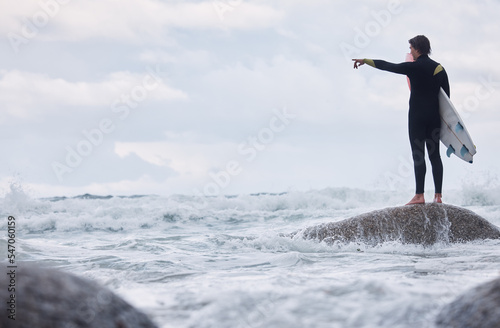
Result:
<svg viewBox="0 0 500 328"><path fill-rule="evenodd" d="M365 63L375 68L397 74L405 74L410 79L410 110L408 131L415 168L416 193L424 193L425 149L429 153L436 193L441 193L443 185L443 163L439 154L439 89L442 87L448 97L450 85L444 68L427 55L421 55L414 62L400 64L383 60L365 59Z"/></svg>

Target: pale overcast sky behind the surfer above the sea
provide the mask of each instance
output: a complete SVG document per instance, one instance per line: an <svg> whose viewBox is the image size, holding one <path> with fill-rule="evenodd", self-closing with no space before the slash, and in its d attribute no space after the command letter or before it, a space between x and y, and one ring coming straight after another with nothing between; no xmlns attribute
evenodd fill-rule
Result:
<svg viewBox="0 0 500 328"><path fill-rule="evenodd" d="M417 34L477 146L444 192L498 183L498 1L0 4L0 195L411 191L406 78L350 59Z"/></svg>

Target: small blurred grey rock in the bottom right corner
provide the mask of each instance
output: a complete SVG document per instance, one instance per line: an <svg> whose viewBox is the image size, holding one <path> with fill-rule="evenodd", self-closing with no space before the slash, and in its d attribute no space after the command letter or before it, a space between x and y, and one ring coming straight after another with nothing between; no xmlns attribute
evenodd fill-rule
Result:
<svg viewBox="0 0 500 328"><path fill-rule="evenodd" d="M438 327L500 327L500 278L480 285L445 306L436 319Z"/></svg>

